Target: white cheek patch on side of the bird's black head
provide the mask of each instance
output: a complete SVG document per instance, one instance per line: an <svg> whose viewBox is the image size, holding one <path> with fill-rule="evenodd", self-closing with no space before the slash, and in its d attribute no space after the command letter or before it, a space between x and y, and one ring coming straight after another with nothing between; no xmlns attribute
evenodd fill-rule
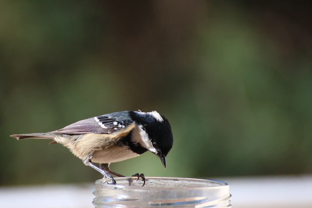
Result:
<svg viewBox="0 0 312 208"><path fill-rule="evenodd" d="M143 129L142 125L139 125L137 128L133 129L133 136L132 136L132 141L134 143L140 143L142 147L148 149L151 152L154 152L155 154L158 153L158 151L154 148L151 140L149 139L148 134L146 131Z"/></svg>

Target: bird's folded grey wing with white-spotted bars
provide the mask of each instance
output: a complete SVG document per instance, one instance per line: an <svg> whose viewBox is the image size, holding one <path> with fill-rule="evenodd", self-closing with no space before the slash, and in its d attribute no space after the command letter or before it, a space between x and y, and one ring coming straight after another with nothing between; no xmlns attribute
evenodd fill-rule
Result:
<svg viewBox="0 0 312 208"><path fill-rule="evenodd" d="M131 123L130 119L121 119L120 114L113 113L81 120L53 132L64 134L109 134L126 128Z"/></svg>

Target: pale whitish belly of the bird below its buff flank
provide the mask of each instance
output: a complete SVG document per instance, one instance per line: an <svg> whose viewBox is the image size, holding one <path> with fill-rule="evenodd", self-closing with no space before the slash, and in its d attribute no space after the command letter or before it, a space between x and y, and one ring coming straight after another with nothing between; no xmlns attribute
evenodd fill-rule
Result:
<svg viewBox="0 0 312 208"><path fill-rule="evenodd" d="M124 147L115 147L96 152L92 156L91 161L96 163L111 163L123 161L137 156L139 156L139 154L134 153L129 149L125 149Z"/></svg>

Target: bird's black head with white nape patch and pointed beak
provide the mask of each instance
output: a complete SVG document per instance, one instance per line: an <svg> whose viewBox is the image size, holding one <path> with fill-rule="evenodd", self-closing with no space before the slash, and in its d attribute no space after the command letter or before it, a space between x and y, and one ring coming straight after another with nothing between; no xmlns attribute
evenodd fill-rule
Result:
<svg viewBox="0 0 312 208"><path fill-rule="evenodd" d="M130 111L129 114L148 136L149 143L143 141L141 145L160 157L166 167L165 158L173 146L173 134L168 119L156 111L149 113Z"/></svg>

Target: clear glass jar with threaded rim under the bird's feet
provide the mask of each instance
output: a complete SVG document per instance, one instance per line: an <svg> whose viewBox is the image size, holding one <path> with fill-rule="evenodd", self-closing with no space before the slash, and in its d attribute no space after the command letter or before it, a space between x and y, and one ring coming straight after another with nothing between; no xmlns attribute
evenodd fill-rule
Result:
<svg viewBox="0 0 312 208"><path fill-rule="evenodd" d="M232 207L230 187L222 181L146 177L115 178L117 185L106 183L103 178L95 182L95 208L137 207ZM131 184L131 185L130 185Z"/></svg>

